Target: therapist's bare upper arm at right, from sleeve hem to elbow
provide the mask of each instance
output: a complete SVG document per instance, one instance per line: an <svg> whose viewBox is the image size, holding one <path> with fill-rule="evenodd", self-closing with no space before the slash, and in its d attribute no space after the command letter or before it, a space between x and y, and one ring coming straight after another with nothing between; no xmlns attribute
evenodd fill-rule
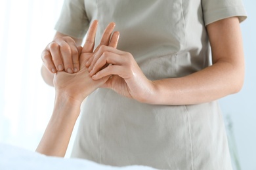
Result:
<svg viewBox="0 0 256 170"><path fill-rule="evenodd" d="M213 64L230 65L239 82L244 81L244 50L240 22L237 17L226 18L206 26L211 44Z"/></svg>

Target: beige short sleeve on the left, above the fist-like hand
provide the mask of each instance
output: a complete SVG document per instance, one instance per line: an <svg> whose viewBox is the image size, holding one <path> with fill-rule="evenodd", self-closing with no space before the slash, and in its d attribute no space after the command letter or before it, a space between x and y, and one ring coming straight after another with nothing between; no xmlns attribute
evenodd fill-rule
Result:
<svg viewBox="0 0 256 170"><path fill-rule="evenodd" d="M65 35L83 39L89 28L84 0L64 0L60 18L54 28Z"/></svg>

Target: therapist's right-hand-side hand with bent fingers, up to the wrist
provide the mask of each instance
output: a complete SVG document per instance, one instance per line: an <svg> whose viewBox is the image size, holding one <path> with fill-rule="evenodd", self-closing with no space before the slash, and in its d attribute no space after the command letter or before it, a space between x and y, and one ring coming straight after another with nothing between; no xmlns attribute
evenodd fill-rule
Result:
<svg viewBox="0 0 256 170"><path fill-rule="evenodd" d="M104 65L108 67L102 69ZM125 97L146 103L148 97L154 93L154 82L146 78L129 52L101 46L89 66L89 71L93 80L112 76L102 87L111 88Z"/></svg>

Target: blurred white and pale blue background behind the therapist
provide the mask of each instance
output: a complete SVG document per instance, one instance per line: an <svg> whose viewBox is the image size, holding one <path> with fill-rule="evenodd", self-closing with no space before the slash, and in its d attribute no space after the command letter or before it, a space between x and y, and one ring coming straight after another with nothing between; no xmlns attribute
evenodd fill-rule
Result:
<svg viewBox="0 0 256 170"><path fill-rule="evenodd" d="M52 41L63 0L0 1L0 142L35 150L51 116L54 88L41 78L41 52ZM220 100L235 169L256 169L256 1L244 0L245 83ZM76 127L75 127L76 129ZM68 148L70 155L72 143Z"/></svg>

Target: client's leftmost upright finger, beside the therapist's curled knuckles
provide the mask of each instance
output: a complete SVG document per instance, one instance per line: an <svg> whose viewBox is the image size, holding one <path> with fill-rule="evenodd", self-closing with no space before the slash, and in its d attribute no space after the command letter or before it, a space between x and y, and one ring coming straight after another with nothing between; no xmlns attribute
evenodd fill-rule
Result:
<svg viewBox="0 0 256 170"><path fill-rule="evenodd" d="M93 52L93 48L95 47L95 36L96 36L97 27L98 27L98 21L94 20L87 32L87 37L85 39L85 44L83 45L82 53Z"/></svg>

